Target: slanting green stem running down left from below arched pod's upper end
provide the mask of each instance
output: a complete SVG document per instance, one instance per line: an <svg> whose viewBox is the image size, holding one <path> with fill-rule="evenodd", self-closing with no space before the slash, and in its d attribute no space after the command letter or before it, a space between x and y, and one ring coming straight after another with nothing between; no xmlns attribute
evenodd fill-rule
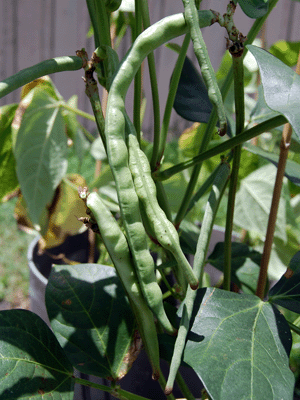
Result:
<svg viewBox="0 0 300 400"><path fill-rule="evenodd" d="M168 98L166 102L166 107L165 107L165 112L164 112L164 117L162 121L162 126L160 129L160 132L158 135L154 136L154 142L153 142L153 153L152 153L152 158L151 158L151 170L154 171L158 168L161 158L164 153L166 141L167 141L167 134L168 134L168 129L169 129L169 124L170 124L170 118L171 118L171 112L173 109L173 104L178 88L178 83L183 67L183 63L185 60L186 52L189 47L191 41L191 35L187 33L185 35L184 41L181 46L181 50L178 56L178 59L176 61L174 71L172 74L171 78L171 83L170 83L170 89L168 93Z"/></svg>

